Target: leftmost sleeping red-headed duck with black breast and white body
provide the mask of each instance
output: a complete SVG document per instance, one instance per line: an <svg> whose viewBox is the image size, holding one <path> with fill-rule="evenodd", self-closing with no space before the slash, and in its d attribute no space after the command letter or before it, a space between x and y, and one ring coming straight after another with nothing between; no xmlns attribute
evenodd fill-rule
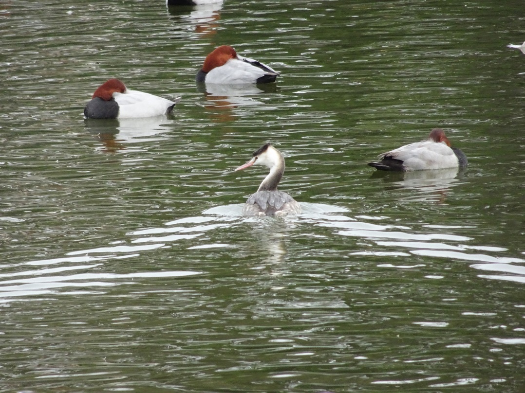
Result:
<svg viewBox="0 0 525 393"><path fill-rule="evenodd" d="M129 90L118 79L104 82L84 108L84 116L94 119L150 117L169 114L181 97L170 101L162 97Z"/></svg>

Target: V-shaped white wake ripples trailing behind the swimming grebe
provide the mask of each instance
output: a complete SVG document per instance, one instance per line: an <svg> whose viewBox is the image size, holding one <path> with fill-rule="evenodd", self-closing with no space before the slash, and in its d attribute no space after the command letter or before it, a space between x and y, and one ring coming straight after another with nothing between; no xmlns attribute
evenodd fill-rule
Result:
<svg viewBox="0 0 525 393"><path fill-rule="evenodd" d="M151 280L199 275L203 272L159 270L119 273L93 272L93 270L103 270L104 264L110 260L137 258L144 253L174 246L186 249L190 253L193 250L202 249L236 249L237 245L220 241L223 238L215 239L215 237L220 237L228 228L257 222L276 226L271 229L274 232L278 227L286 229L282 232L272 232L267 242L266 261L271 264L282 262L283 256L287 254L287 243L283 242L283 239L290 234L296 235L298 231L303 232L304 225L316 225L332 228L335 236L366 239L366 244L370 244L370 249L355 250L349 247L348 255L377 257L382 267L411 269L425 266L412 260L413 256L476 261L479 263L471 265L472 268L502 273L501 275L479 275L480 278L525 282L525 267L511 265L524 263L524 259L498 255L507 251L504 247L465 244L472 238L450 233L454 229L460 230L460 226L438 228L432 225L421 225L419 228L414 228L398 221L393 223L387 216L351 217L348 209L316 203L301 203L304 213L287 216L284 219L242 217L240 215L242 206L242 204L216 206L206 210L205 215L184 217L166 222L162 227L132 231L128 234L130 237L128 240L120 239L101 247L71 251L60 258L31 260L19 264L18 267L43 266L43 268L19 270L13 274L0 274L0 297L25 297L46 293L64 294L70 293L63 292L63 290L71 287L82 288L83 291L89 292L93 288L134 284L138 282L137 279ZM260 231L260 229L261 226L256 225L252 226L251 231ZM385 239L393 240L385 241ZM480 251L486 253L481 254ZM385 264L385 257L402 259L396 264ZM47 267L49 265L58 265L58 267L49 268ZM78 272L61 275L73 270ZM60 290L62 292L59 292Z"/></svg>

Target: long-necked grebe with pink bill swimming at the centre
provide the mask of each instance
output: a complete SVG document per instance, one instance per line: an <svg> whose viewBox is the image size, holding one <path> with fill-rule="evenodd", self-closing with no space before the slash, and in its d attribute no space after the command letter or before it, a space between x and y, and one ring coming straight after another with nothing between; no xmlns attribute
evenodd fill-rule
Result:
<svg viewBox="0 0 525 393"><path fill-rule="evenodd" d="M289 194L277 190L277 185L281 181L282 173L285 171L285 159L281 153L271 144L267 143L259 150L255 151L251 160L241 165L236 171L251 167L252 165L264 165L270 168L270 173L262 180L259 189L252 194L243 208L243 215L284 216L287 214L301 213L301 206Z"/></svg>

